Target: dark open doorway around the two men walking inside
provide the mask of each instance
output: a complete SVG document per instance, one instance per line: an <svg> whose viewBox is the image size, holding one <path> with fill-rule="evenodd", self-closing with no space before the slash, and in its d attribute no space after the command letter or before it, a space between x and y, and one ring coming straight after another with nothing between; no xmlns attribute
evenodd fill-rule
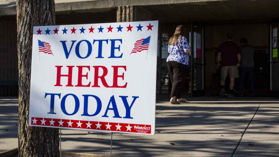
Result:
<svg viewBox="0 0 279 157"><path fill-rule="evenodd" d="M226 41L226 35L233 34L233 42L239 45L241 38L246 38L248 44L255 47L254 81L256 96L269 96L270 67L269 67L269 24L242 23L216 24L205 26L205 58L206 95L218 96L220 93L220 70L217 69L217 49ZM239 45L240 46L240 45ZM234 94L238 94L238 79L235 81ZM249 81L244 82L244 96L248 96Z"/></svg>

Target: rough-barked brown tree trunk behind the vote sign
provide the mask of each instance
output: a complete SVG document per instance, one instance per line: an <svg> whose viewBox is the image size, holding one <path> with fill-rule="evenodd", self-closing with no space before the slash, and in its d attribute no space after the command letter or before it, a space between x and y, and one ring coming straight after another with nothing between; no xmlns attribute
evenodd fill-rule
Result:
<svg viewBox="0 0 279 157"><path fill-rule="evenodd" d="M55 25L54 0L17 1L18 156L59 156L59 129L28 126L33 26Z"/></svg>

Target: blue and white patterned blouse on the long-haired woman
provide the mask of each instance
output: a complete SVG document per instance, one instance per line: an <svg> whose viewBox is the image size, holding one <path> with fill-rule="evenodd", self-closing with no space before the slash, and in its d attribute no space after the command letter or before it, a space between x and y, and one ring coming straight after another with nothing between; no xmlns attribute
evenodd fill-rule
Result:
<svg viewBox="0 0 279 157"><path fill-rule="evenodd" d="M181 35L179 35L178 45L169 45L167 62L176 61L189 67L189 55L184 52L189 49L187 39L184 36L181 38Z"/></svg>

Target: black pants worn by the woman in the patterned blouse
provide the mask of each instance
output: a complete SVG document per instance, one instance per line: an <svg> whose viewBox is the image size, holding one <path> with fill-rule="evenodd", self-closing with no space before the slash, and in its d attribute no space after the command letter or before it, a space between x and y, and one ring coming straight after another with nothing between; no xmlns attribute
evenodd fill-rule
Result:
<svg viewBox="0 0 279 157"><path fill-rule="evenodd" d="M171 97L176 97L176 99L181 98L181 92L183 84L186 80L186 75L188 72L188 65L184 65L175 61L167 62L169 77L171 79Z"/></svg>

